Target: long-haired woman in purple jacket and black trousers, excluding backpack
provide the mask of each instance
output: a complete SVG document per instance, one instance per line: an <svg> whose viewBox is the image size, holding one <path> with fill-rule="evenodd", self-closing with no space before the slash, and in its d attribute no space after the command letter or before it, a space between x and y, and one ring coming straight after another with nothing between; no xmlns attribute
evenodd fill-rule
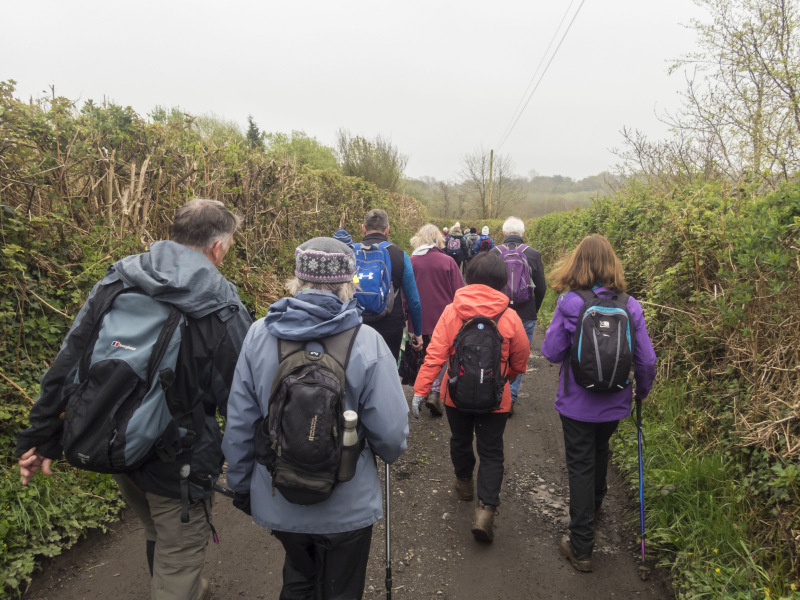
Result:
<svg viewBox="0 0 800 600"><path fill-rule="evenodd" d="M591 392L575 382L569 357L583 308L583 299L575 290L624 292L625 275L608 240L589 235L550 273L550 280L561 296L544 337L542 354L550 362L562 364L555 408L561 415L569 472L569 535L561 541L559 553L578 571L592 571L592 523L608 489L608 442L620 419L631 413L633 390L628 386L618 392ZM656 355L642 306L628 297L627 309L634 328L636 397L644 401L655 379Z"/></svg>

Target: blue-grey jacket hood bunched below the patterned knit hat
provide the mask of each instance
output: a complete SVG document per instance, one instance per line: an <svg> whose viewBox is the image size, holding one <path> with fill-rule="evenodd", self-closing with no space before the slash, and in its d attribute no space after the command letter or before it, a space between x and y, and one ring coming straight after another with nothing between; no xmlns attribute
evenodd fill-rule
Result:
<svg viewBox="0 0 800 600"><path fill-rule="evenodd" d="M360 324L361 309L355 298L342 302L333 292L306 290L270 306L264 323L277 338L316 340Z"/></svg>

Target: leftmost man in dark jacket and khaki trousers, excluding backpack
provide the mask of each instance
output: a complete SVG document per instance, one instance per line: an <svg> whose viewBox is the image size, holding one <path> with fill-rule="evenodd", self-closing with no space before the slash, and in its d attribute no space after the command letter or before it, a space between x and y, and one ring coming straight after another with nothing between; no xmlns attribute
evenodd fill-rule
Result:
<svg viewBox="0 0 800 600"><path fill-rule="evenodd" d="M99 319L98 298L109 293L108 286L136 287L185 315L188 325L175 381L181 402L189 406L202 403L202 431L174 460L154 455L141 467L114 476L123 498L144 525L153 600L210 597L201 572L212 532L212 485L223 462L215 414L226 412L236 359L252 324L236 287L218 271L240 222L221 202L191 200L175 214L171 241L154 242L149 252L112 265L95 285L53 365L42 377L30 427L17 440L23 485L39 469L52 475L52 462L62 454L64 388L75 380L92 324ZM130 321L120 319L134 333L137 324ZM182 467L188 473L181 473ZM188 522L181 518L185 511Z"/></svg>

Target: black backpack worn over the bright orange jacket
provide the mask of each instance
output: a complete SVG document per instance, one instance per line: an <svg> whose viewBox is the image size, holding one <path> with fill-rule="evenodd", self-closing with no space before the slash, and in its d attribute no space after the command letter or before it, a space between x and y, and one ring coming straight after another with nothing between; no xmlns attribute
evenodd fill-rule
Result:
<svg viewBox="0 0 800 600"><path fill-rule="evenodd" d="M503 311L505 312L505 311ZM506 377L502 373L503 336L496 319L472 317L458 330L448 364L447 389L456 408L490 413L500 408Z"/></svg>

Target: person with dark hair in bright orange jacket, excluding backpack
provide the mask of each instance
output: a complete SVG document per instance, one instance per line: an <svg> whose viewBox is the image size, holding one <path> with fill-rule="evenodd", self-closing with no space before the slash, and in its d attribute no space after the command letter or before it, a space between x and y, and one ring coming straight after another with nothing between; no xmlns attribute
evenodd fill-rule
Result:
<svg viewBox="0 0 800 600"><path fill-rule="evenodd" d="M475 454L473 435L478 441L478 506L472 521L472 535L480 541L492 541L494 514L500 504L500 485L503 483L503 432L511 408L508 381L524 373L530 356L530 346L519 316L508 308L508 296L502 293L508 282L508 269L496 254L484 252L470 261L467 286L458 290L453 303L445 308L428 346L425 364L414 383L412 412L419 418L419 406L428 396L434 379L454 353L453 341L464 322L472 317L485 316L497 320L500 335L502 369L506 377L500 408L491 413L473 414L460 411L450 398L448 386L442 386L447 421L450 425L450 458L456 475L458 497L470 501L474 497L473 471ZM498 319L499 317L499 319ZM449 379L448 373L445 381Z"/></svg>

